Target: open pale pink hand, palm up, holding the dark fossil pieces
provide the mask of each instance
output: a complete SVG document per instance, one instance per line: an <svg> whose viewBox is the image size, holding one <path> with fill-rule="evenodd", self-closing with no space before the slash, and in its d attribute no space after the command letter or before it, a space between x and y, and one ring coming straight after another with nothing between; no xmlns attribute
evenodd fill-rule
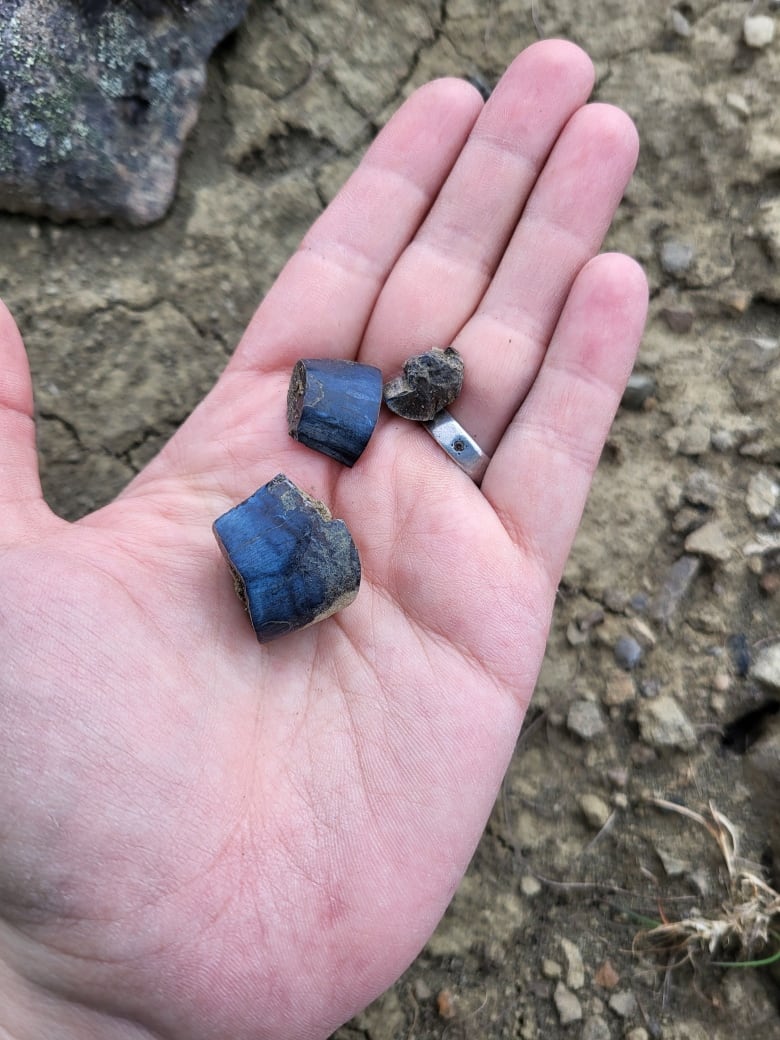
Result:
<svg viewBox="0 0 780 1040"><path fill-rule="evenodd" d="M0 1038L314 1040L435 928L490 813L644 323L596 256L636 158L538 44L487 105L417 92L212 392L111 504L45 504L0 310ZM300 357L454 344L482 489L385 412L354 469L287 435ZM118 402L118 408L122 402ZM341 614L260 646L211 522L278 472L348 524ZM604 532L608 537L608 532Z"/></svg>

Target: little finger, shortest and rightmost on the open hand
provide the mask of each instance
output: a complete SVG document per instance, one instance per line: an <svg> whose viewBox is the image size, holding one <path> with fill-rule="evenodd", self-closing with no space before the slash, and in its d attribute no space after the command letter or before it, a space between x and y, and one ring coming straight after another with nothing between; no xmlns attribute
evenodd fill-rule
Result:
<svg viewBox="0 0 780 1040"><path fill-rule="evenodd" d="M557 584L631 370L647 281L605 254L577 276L528 394L482 486L504 527Z"/></svg>

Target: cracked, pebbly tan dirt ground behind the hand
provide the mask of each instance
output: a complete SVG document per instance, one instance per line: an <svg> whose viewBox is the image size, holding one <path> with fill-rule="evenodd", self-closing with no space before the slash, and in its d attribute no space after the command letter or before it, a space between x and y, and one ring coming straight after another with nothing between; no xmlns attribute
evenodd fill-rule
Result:
<svg viewBox="0 0 780 1040"><path fill-rule="evenodd" d="M594 57L596 98L639 126L607 245L652 288L640 399L616 420L471 868L420 957L338 1040L780 1038L771 968L710 963L736 946L686 959L680 937L655 955L635 941L661 920L693 932L698 917L704 934L729 896L713 834L653 799L716 833L722 814L740 855L780 875L780 688L753 671L780 641L780 31L747 46L748 14L780 24L777 2L733 0L258 0L212 60L165 220L0 215L46 494L76 518L210 388L417 84L489 86L561 35Z"/></svg>

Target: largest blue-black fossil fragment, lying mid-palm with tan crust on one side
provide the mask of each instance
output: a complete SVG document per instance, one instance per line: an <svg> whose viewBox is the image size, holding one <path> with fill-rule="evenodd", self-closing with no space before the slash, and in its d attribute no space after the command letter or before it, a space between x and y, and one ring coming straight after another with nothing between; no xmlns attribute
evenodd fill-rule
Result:
<svg viewBox="0 0 780 1040"><path fill-rule="evenodd" d="M322 621L358 595L360 557L346 524L284 473L213 530L260 643Z"/></svg>

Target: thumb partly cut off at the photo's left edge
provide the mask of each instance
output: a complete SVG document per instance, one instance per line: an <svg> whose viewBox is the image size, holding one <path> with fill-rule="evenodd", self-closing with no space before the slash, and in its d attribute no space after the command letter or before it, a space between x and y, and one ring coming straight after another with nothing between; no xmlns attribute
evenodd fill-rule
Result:
<svg viewBox="0 0 780 1040"><path fill-rule="evenodd" d="M14 318L0 301L0 546L29 536L47 515L37 470L27 354Z"/></svg>

